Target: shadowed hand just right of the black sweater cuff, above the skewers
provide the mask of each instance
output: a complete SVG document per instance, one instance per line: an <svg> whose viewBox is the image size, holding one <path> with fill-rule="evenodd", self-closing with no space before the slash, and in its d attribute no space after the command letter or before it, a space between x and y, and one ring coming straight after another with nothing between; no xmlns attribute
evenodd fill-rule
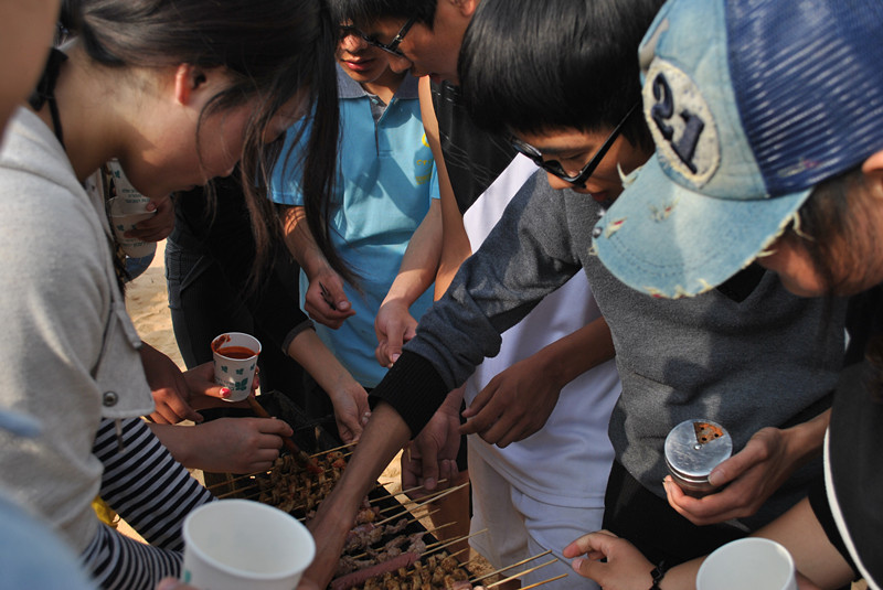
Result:
<svg viewBox="0 0 883 590"><path fill-rule="evenodd" d="M459 475L457 451L460 449L459 407L444 404L429 422L402 452L402 489L423 486L409 492L414 498L425 496L438 487L439 480L449 486Z"/></svg>

